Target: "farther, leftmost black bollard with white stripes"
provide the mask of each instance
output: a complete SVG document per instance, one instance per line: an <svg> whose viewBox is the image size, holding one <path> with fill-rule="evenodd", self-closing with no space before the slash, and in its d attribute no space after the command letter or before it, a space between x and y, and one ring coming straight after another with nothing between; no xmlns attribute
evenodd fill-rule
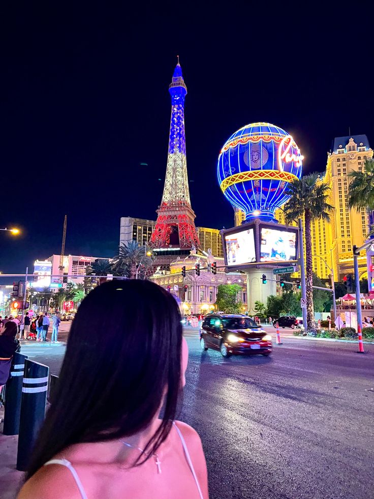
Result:
<svg viewBox="0 0 374 499"><path fill-rule="evenodd" d="M19 416L21 413L22 378L27 355L16 352L10 368L11 377L6 385L6 402L4 410L4 435L18 435Z"/></svg>

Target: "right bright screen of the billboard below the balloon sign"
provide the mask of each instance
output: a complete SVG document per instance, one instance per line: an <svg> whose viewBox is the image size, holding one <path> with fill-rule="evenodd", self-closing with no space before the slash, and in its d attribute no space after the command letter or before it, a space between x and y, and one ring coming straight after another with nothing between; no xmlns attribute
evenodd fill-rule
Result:
<svg viewBox="0 0 374 499"><path fill-rule="evenodd" d="M296 230L260 228L260 261L296 260Z"/></svg>

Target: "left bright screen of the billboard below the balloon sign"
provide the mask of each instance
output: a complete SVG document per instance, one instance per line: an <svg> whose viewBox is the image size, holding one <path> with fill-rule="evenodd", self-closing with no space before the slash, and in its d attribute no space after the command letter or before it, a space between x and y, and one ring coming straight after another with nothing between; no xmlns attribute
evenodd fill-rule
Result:
<svg viewBox="0 0 374 499"><path fill-rule="evenodd" d="M226 234L227 265L237 266L256 261L255 234L253 228Z"/></svg>

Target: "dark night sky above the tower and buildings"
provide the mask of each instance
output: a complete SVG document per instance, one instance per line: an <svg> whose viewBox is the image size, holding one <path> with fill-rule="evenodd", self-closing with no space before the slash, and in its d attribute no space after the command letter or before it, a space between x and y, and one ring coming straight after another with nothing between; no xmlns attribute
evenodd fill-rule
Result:
<svg viewBox="0 0 374 499"><path fill-rule="evenodd" d="M78 4L3 8L0 226L22 229L0 232L3 273L59 254L65 214L66 253L88 256L114 255L121 216L155 220L177 54L197 225L233 225L216 161L247 123L292 134L304 172L323 171L349 127L374 143L372 27L358 4Z"/></svg>

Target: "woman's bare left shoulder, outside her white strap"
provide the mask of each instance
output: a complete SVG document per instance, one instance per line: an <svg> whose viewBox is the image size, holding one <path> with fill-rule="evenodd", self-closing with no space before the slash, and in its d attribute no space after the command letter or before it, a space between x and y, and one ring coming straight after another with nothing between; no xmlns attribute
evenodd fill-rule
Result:
<svg viewBox="0 0 374 499"><path fill-rule="evenodd" d="M17 499L75 499L81 497L73 475L66 466L42 466L23 485Z"/></svg>

